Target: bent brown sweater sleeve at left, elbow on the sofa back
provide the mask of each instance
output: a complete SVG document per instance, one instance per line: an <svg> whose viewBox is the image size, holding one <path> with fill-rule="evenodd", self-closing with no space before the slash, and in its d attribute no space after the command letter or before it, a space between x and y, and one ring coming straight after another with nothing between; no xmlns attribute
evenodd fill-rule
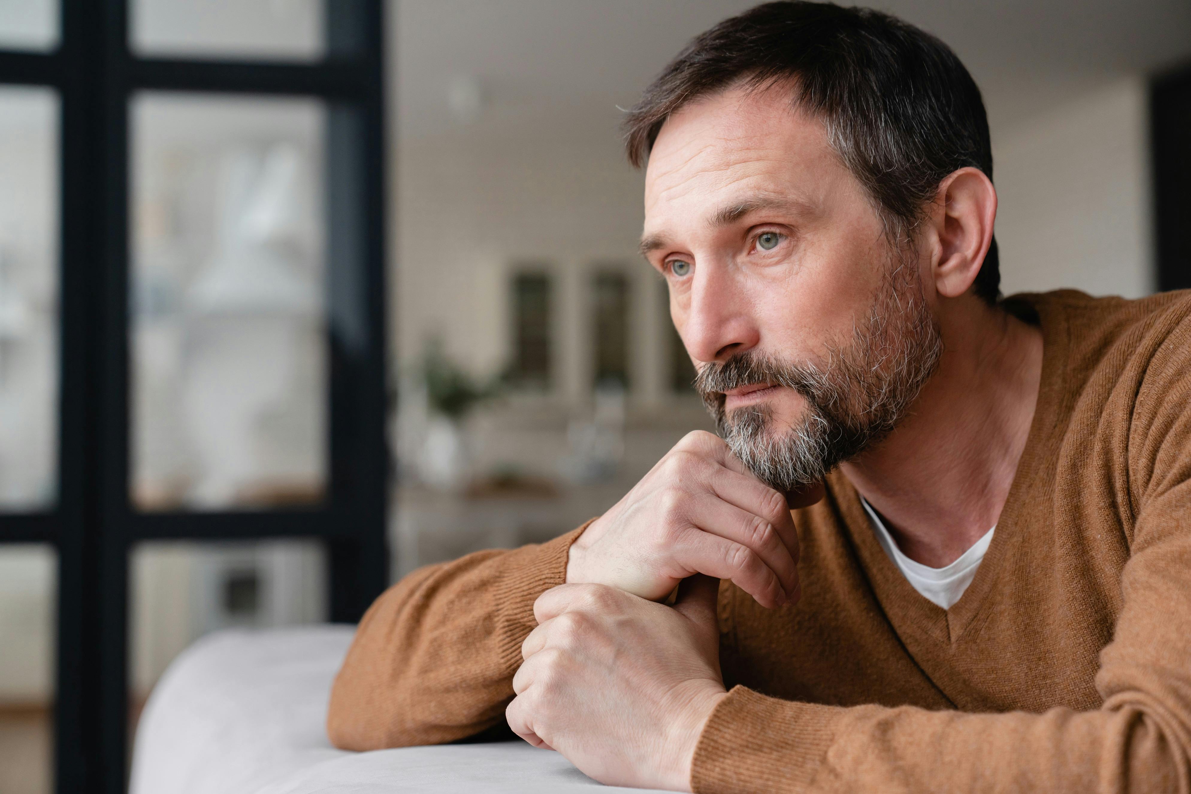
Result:
<svg viewBox="0 0 1191 794"><path fill-rule="evenodd" d="M422 568L386 590L360 621L331 688L331 743L441 744L504 719L520 644L537 625L534 601L563 583L567 552L586 526Z"/></svg>

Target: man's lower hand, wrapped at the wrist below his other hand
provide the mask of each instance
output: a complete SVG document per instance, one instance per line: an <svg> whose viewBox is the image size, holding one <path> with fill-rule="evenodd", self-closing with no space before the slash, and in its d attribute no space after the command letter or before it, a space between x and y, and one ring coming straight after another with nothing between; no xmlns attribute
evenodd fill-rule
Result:
<svg viewBox="0 0 1191 794"><path fill-rule="evenodd" d="M543 593L510 727L603 783L690 790L699 734L725 696L718 586L691 577L673 608L599 584Z"/></svg>

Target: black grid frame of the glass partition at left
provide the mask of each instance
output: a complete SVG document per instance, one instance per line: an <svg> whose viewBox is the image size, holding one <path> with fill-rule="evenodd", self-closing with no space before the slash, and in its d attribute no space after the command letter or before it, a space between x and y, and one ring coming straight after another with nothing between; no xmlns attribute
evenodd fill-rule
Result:
<svg viewBox="0 0 1191 794"><path fill-rule="evenodd" d="M384 2L324 0L311 62L142 57L129 0L61 0L58 46L0 50L0 85L60 100L57 502L0 513L0 543L57 552L55 788L121 792L129 757L129 556L145 540L319 539L333 621L387 584ZM139 513L130 501L129 115L137 92L326 106L329 489L310 509Z"/></svg>

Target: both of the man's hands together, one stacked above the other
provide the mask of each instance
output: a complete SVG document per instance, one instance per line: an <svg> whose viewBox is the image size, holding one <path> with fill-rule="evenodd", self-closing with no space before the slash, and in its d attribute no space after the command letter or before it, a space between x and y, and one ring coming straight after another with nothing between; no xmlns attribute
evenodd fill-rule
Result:
<svg viewBox="0 0 1191 794"><path fill-rule="evenodd" d="M727 693L716 594L798 599L798 536L784 495L711 433L684 438L572 545L567 583L534 605L509 725L596 780L690 790L699 733ZM673 607L656 601L679 587Z"/></svg>

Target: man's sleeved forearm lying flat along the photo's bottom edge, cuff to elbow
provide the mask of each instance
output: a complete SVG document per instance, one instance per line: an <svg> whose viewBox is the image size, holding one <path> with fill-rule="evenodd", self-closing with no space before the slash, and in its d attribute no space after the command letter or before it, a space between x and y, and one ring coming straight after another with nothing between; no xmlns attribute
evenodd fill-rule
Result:
<svg viewBox="0 0 1191 794"><path fill-rule="evenodd" d="M800 704L735 688L712 713L696 792L1180 792L1187 737L1156 704L967 714Z"/></svg>

